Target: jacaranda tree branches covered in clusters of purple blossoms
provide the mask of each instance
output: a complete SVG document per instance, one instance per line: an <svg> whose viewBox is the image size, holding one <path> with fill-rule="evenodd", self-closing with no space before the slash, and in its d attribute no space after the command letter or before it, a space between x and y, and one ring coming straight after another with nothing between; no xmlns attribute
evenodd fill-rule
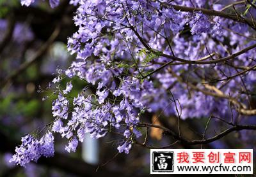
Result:
<svg viewBox="0 0 256 177"><path fill-rule="evenodd" d="M33 6L34 1L20 2ZM53 11L60 3L49 0ZM55 98L52 122L22 137L10 162L25 166L54 156L56 133L67 139L67 152L76 152L90 133L92 138L117 134L118 152L129 153L134 145L205 145L235 131L256 130L250 123L256 115L255 1L69 3L76 8L77 28L67 40L67 50L76 60L57 69L49 88L40 88L47 92L43 101ZM46 46L58 36L63 21L59 19ZM84 83L75 96L74 79ZM65 88L60 85L64 80ZM175 118L175 129L156 124L161 117ZM207 135L203 127L201 138L188 139L180 127L188 118L205 118L207 126L223 122L226 129L215 127L216 133ZM152 128L173 143L148 144Z"/></svg>

